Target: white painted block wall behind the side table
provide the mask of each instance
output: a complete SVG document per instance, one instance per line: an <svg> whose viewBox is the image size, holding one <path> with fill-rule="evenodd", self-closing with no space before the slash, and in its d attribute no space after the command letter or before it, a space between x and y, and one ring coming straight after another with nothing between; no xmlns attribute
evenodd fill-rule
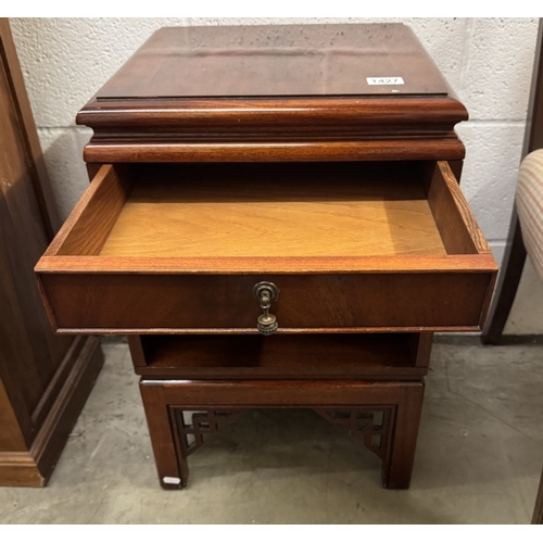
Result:
<svg viewBox="0 0 543 543"><path fill-rule="evenodd" d="M74 125L77 111L154 29L384 21L412 26L470 113L470 121L457 127L467 148L463 190L501 260L522 147L536 18L12 18L61 215L67 215L87 184L81 150L90 131ZM528 274L526 296L538 310L543 306L543 288L532 272ZM527 318L522 306L515 311L522 318L513 319L509 331L543 331L539 315Z"/></svg>

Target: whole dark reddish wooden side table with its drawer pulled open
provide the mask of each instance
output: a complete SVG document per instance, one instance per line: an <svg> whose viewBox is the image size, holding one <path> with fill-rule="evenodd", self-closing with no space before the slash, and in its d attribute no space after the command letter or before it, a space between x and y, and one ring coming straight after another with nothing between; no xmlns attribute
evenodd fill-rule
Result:
<svg viewBox="0 0 543 543"><path fill-rule="evenodd" d="M93 179L36 270L56 331L130 334L165 488L272 406L408 485L431 334L480 330L496 274L465 119L397 24L164 28L80 111Z"/></svg>

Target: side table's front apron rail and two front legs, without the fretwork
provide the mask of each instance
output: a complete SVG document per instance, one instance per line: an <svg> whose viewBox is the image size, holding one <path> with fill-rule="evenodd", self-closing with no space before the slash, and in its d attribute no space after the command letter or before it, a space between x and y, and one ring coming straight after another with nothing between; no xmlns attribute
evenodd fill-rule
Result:
<svg viewBox="0 0 543 543"><path fill-rule="evenodd" d="M391 442L383 455L384 488L409 487L422 407L422 382L364 380L151 380L140 381L161 484L187 485L189 467L179 447L173 409L315 408L393 409ZM356 431L355 429L354 431ZM356 432L358 433L358 432ZM179 481L164 484L164 477Z"/></svg>

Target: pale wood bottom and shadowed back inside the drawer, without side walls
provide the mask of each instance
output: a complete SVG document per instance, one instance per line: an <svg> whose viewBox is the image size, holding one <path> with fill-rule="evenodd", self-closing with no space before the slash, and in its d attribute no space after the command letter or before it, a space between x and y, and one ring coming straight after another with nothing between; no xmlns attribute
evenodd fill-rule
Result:
<svg viewBox="0 0 543 543"><path fill-rule="evenodd" d="M420 179L395 166L156 168L132 189L100 254L445 254Z"/></svg>

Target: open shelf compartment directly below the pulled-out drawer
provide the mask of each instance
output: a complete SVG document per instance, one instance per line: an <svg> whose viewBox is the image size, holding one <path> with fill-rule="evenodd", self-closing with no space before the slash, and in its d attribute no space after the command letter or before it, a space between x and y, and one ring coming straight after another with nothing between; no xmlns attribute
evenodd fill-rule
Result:
<svg viewBox="0 0 543 543"><path fill-rule="evenodd" d="M426 338L425 338L426 339ZM430 338L431 340L431 338ZM135 336L136 372L153 378L420 379L416 333Z"/></svg>

